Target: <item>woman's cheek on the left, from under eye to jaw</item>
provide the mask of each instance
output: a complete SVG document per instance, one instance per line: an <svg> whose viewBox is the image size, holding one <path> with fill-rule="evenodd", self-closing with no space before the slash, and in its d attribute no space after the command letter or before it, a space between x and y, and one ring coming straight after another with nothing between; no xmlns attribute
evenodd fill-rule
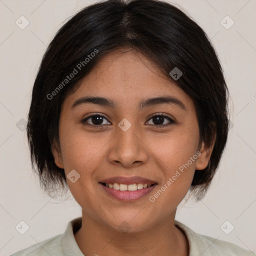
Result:
<svg viewBox="0 0 256 256"><path fill-rule="evenodd" d="M100 205L96 205L98 200L95 200L93 192L94 172L100 164L100 159L102 160L104 145L109 138L106 139L104 136L99 138L96 133L88 134L65 127L60 131L59 136L67 184L77 203L82 207L86 205L86 211L93 214L95 208L102 210ZM73 169L79 174L74 174L74 176L78 175L75 182L68 178L68 173Z"/></svg>

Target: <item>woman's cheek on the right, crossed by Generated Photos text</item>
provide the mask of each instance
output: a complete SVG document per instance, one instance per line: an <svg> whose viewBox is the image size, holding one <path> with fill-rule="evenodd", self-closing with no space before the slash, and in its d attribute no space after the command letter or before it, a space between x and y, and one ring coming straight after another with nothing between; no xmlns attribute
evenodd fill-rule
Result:
<svg viewBox="0 0 256 256"><path fill-rule="evenodd" d="M158 201L156 203L172 202L177 206L183 199L192 182L200 154L197 151L198 140L198 130L188 129L170 134L164 140L158 139L159 146L151 147L155 149L154 154L164 176L159 185L161 191L152 198ZM155 142L152 141L152 146ZM161 199L157 199L158 197Z"/></svg>

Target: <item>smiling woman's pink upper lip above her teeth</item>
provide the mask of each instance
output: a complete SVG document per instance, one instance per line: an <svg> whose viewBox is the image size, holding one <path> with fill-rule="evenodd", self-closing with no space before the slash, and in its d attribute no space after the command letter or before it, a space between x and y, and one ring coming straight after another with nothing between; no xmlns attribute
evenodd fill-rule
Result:
<svg viewBox="0 0 256 256"><path fill-rule="evenodd" d="M123 177L123 176L115 176L103 179L100 181L101 183L119 183L119 184L133 184L133 183L143 183L143 184L154 184L157 183L154 180L140 177L140 176L132 176L132 177Z"/></svg>

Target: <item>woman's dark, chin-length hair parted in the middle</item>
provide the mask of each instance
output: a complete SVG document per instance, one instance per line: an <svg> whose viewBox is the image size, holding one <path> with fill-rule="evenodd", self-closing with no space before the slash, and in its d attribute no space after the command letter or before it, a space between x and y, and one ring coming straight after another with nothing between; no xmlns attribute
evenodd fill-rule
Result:
<svg viewBox="0 0 256 256"><path fill-rule="evenodd" d="M51 152L53 141L59 143L63 99L104 55L124 47L150 59L194 102L200 141L206 146L214 143L208 165L195 170L189 187L199 200L226 144L228 89L202 28L179 8L158 0L106 0L89 5L73 15L49 43L34 81L27 122L32 168L40 185L51 196L56 186L67 187L64 171L56 166ZM77 65L79 72L63 83ZM174 67L182 72L177 80L169 74Z"/></svg>

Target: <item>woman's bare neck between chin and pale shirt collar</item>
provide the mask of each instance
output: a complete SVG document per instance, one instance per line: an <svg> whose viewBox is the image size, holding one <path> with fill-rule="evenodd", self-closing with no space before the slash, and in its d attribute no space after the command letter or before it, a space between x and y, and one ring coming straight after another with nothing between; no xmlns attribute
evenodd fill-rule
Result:
<svg viewBox="0 0 256 256"><path fill-rule="evenodd" d="M74 234L84 255L188 256L185 234L174 225L174 214L146 230L121 232L82 211L82 226Z"/></svg>

